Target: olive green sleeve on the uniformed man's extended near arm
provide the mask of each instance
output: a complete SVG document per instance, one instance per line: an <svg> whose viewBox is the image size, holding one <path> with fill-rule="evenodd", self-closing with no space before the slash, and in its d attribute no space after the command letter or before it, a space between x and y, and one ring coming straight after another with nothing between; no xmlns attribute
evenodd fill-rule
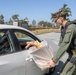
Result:
<svg viewBox="0 0 76 75"><path fill-rule="evenodd" d="M64 54L65 51L67 51L68 47L70 46L72 37L74 35L74 30L75 30L74 25L70 25L67 28L65 37L64 37L56 55L52 59L55 63L57 63L57 61L60 59L60 57Z"/></svg>

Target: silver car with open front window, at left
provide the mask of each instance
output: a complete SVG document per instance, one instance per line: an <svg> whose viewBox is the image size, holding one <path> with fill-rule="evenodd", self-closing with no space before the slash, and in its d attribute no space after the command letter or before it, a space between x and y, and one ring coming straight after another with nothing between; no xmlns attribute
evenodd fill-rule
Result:
<svg viewBox="0 0 76 75"><path fill-rule="evenodd" d="M30 58L26 42L40 40L31 31L12 25L0 25L0 75L44 75L48 69L41 70ZM22 43L22 44L20 44Z"/></svg>

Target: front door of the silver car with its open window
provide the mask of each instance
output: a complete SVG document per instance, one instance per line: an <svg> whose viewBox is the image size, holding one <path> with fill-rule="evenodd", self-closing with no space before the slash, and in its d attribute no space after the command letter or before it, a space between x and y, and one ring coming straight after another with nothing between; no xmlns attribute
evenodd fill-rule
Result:
<svg viewBox="0 0 76 75"><path fill-rule="evenodd" d="M28 42L28 41L35 41L40 40L32 35L30 32L24 31L24 30L14 30L14 34L16 35L19 43L20 42ZM26 45L25 45L26 46ZM23 49L23 57L27 66L27 72L26 75L42 75L43 72L41 69L35 64L34 60L31 58L31 55L29 53L29 49L25 49L25 46L22 46Z"/></svg>

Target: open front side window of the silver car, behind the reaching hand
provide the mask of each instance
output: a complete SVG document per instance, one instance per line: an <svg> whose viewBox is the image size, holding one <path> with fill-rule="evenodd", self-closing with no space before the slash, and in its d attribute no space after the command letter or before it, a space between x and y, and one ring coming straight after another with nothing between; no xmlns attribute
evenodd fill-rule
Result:
<svg viewBox="0 0 76 75"><path fill-rule="evenodd" d="M16 31L14 33L18 39L18 42L19 42L22 50L25 50L26 42L34 41L34 39L32 37L30 37L29 35L27 35L24 32Z"/></svg>

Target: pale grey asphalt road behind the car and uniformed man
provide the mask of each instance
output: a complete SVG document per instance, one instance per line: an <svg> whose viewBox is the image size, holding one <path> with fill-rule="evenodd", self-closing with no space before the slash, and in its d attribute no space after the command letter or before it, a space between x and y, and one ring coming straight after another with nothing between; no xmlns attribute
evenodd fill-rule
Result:
<svg viewBox="0 0 76 75"><path fill-rule="evenodd" d="M38 37L42 40L45 40L45 39L50 39L52 40L55 44L58 45L58 42L59 42L59 38L60 38L60 33L58 32L52 32L52 33L47 33L47 34L42 34L42 35L38 35ZM52 74L52 75L59 75L60 74L60 70L61 68L63 67L66 59L68 58L68 54L65 53L59 60L57 66L56 66L56 69L55 69L55 72Z"/></svg>

